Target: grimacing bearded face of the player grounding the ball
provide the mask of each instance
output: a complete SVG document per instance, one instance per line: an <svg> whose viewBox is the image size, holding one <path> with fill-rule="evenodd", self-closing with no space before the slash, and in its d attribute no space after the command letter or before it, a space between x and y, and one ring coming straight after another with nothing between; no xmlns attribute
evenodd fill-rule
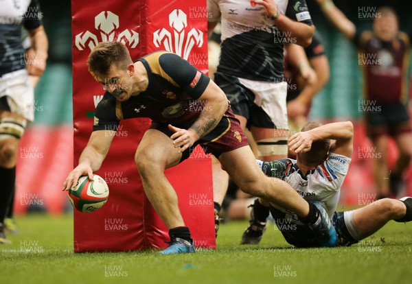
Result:
<svg viewBox="0 0 412 284"><path fill-rule="evenodd" d="M120 102L125 102L130 98L133 81L127 70L112 66L108 74L104 78L100 78L99 82L108 93L111 93Z"/></svg>

